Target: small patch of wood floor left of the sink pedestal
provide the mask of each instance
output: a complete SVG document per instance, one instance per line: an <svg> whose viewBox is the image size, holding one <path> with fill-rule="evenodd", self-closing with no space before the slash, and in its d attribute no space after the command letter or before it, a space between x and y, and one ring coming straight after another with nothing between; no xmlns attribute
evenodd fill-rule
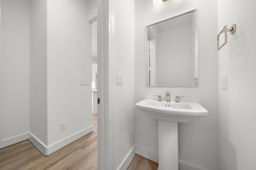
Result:
<svg viewBox="0 0 256 170"><path fill-rule="evenodd" d="M127 170L157 170L158 163L148 160L140 155L135 155Z"/></svg>

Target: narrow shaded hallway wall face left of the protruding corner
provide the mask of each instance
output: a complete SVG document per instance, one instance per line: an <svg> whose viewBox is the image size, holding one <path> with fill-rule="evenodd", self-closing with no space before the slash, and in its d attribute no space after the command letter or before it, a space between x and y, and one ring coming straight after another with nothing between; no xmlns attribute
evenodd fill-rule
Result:
<svg viewBox="0 0 256 170"><path fill-rule="evenodd" d="M47 42L45 0L30 1L30 134L47 144ZM38 88L36 89L36 83Z"/></svg>

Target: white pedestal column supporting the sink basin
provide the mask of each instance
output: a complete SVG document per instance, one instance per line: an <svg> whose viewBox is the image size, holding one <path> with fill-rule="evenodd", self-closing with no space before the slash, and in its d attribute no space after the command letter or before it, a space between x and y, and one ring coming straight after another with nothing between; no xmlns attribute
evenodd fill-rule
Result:
<svg viewBox="0 0 256 170"><path fill-rule="evenodd" d="M158 170L178 170L178 122L158 120Z"/></svg>

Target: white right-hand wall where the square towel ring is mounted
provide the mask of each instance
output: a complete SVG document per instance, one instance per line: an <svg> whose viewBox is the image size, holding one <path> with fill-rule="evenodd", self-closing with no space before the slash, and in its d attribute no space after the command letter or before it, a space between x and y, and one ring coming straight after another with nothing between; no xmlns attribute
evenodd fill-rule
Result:
<svg viewBox="0 0 256 170"><path fill-rule="evenodd" d="M237 25L218 51L218 169L251 170L256 167L256 35L250 29L256 27L256 1L217 2L218 31Z"/></svg>

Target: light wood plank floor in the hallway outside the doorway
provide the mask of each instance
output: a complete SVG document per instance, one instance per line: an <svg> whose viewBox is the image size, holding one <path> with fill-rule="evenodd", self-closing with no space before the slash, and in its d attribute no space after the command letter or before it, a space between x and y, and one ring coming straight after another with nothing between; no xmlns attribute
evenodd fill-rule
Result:
<svg viewBox="0 0 256 170"><path fill-rule="evenodd" d="M28 140L0 150L0 170L96 170L97 114L94 131L44 157Z"/></svg>

